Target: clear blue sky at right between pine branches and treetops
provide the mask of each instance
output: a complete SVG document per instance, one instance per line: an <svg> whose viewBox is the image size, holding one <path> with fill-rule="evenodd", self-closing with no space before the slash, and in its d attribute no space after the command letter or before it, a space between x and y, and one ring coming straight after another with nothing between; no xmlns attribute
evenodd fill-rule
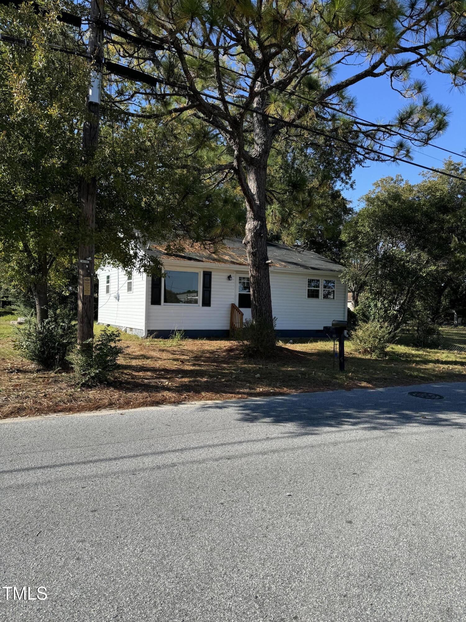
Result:
<svg viewBox="0 0 466 622"><path fill-rule="evenodd" d="M427 75L426 72L417 70L413 72L412 77L421 78L426 81L427 94L431 95L436 103L441 103L450 108L449 126L441 136L437 137L434 144L445 149L451 149L462 153L466 149L466 92L461 93L459 90L452 89L450 77L435 73ZM355 114L364 119L374 119L388 121L395 116L396 111L402 108L409 100L405 100L399 93L391 90L390 82L385 78L367 79L353 86L350 93L355 96L357 106ZM449 154L435 149L434 147L414 147L419 149L421 153L413 151L413 160L419 164L439 168L442 167L442 161ZM432 157L429 157L432 156ZM454 159L460 158L452 156ZM438 158L433 159L433 158ZM464 159L466 162L466 157ZM367 162L367 168L357 167L354 171L355 189L344 190L345 197L353 202L355 208L358 207L358 199L370 188L373 182L380 177L400 174L404 179L411 182L419 180L421 169L409 164L393 164L390 162Z"/></svg>

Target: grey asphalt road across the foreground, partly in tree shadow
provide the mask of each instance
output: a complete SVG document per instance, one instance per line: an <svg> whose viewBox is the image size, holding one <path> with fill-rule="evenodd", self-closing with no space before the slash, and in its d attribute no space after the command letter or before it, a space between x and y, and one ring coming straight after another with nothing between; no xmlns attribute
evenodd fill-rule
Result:
<svg viewBox="0 0 466 622"><path fill-rule="evenodd" d="M465 441L466 383L4 420L0 620L466 620Z"/></svg>

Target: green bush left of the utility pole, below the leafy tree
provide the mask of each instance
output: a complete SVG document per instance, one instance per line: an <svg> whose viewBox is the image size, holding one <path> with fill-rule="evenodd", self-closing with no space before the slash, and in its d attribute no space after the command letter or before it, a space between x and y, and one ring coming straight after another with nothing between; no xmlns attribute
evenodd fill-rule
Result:
<svg viewBox="0 0 466 622"><path fill-rule="evenodd" d="M66 356L75 347L76 322L68 310L50 313L38 325L35 318L27 318L24 326L17 327L14 344L21 355L44 369L59 369Z"/></svg>

